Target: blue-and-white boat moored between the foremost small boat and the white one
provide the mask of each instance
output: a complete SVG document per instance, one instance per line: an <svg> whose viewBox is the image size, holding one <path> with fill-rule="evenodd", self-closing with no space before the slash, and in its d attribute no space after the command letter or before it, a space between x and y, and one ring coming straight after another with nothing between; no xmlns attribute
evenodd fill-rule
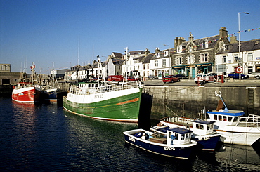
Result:
<svg viewBox="0 0 260 172"><path fill-rule="evenodd" d="M212 120L203 121L173 116L162 118L160 124L150 128L150 130L166 135L168 128L188 128L190 131L193 131L191 140L195 140L200 149L204 151L215 151L221 134L214 131L214 123L215 121Z"/></svg>

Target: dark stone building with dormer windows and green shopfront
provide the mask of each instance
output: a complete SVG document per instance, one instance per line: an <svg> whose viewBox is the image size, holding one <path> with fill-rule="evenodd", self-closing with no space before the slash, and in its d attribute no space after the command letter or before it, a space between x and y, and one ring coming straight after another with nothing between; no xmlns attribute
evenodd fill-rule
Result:
<svg viewBox="0 0 260 172"><path fill-rule="evenodd" d="M194 39L191 33L188 41L176 37L171 55L172 73L194 78L198 73L215 72L215 54L219 41L229 44L226 27L221 27L219 35L212 37Z"/></svg>

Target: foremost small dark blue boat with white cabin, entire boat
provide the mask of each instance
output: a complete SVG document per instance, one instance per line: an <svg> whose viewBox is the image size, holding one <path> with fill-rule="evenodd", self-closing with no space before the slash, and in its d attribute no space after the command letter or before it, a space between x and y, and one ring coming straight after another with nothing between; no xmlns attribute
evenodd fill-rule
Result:
<svg viewBox="0 0 260 172"><path fill-rule="evenodd" d="M135 129L124 132L126 143L155 154L179 159L188 159L195 151L197 142L190 140L192 131L185 128L171 128L167 135Z"/></svg>

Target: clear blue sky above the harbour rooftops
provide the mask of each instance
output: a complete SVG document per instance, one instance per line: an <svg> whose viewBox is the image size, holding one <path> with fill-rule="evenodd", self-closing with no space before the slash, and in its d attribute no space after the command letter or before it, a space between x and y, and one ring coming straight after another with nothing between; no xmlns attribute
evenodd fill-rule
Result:
<svg viewBox="0 0 260 172"><path fill-rule="evenodd" d="M37 73L48 74L53 62L58 70L126 47L173 48L189 32L200 39L227 27L238 36L239 12L249 13L240 14L241 30L250 29L241 41L259 39L259 9L259 0L0 0L0 63L20 72L26 61L30 73L35 62Z"/></svg>

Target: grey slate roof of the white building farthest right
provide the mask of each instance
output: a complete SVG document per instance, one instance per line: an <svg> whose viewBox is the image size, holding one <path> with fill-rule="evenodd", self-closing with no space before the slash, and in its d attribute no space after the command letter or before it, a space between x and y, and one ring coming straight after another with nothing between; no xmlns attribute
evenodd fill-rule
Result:
<svg viewBox="0 0 260 172"><path fill-rule="evenodd" d="M240 51L254 51L254 50L260 50L260 39L253 39L250 41L242 41L240 42ZM218 53L216 54L223 54L223 53L238 53L238 42L234 44L226 44L225 46L228 46L228 49L223 47L220 48Z"/></svg>

